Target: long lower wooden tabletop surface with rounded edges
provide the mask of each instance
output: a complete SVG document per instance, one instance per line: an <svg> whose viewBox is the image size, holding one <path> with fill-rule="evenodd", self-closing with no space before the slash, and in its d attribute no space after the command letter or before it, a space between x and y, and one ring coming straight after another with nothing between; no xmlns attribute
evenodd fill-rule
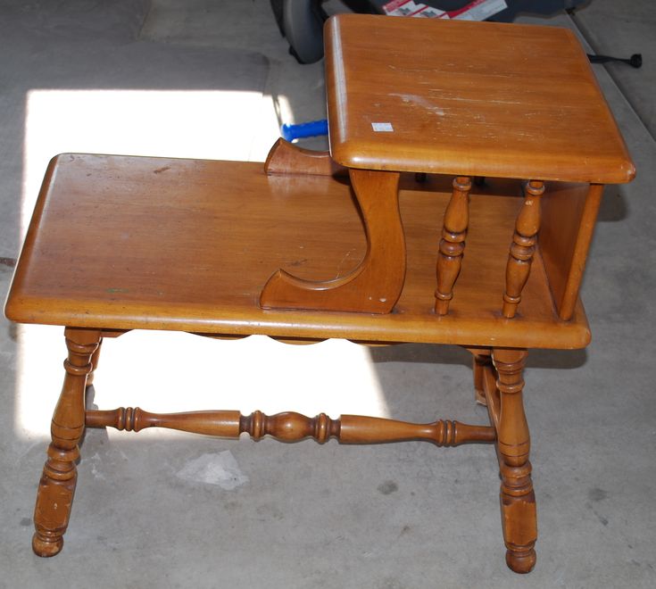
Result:
<svg viewBox="0 0 656 589"><path fill-rule="evenodd" d="M385 315L263 310L278 269L327 280L366 251L347 177L267 176L262 164L62 154L51 162L5 312L23 323L172 329L363 342L576 348L590 339L578 301L558 319L538 248L518 315L501 314L519 183L470 196L461 275L435 306L436 254L452 178L402 178L403 293ZM375 296L375 293L371 293Z"/></svg>

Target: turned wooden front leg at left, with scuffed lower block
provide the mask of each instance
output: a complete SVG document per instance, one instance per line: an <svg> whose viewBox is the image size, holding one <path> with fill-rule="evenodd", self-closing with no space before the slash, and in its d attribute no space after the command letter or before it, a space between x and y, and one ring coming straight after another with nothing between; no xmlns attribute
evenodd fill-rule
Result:
<svg viewBox="0 0 656 589"><path fill-rule="evenodd" d="M52 443L38 485L34 510L36 533L32 549L38 556L54 556L62 550L63 534L71 516L79 459L78 443L84 432L85 385L93 370L92 358L100 344L100 331L66 328L68 358L62 394L54 410Z"/></svg>

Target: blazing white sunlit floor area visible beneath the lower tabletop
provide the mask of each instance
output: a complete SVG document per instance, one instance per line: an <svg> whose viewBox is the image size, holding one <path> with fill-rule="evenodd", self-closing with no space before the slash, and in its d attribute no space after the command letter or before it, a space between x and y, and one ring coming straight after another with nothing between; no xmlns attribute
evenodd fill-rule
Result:
<svg viewBox="0 0 656 589"><path fill-rule="evenodd" d="M46 436L64 374L63 329L21 326L19 341L17 430L23 436ZM367 348L345 340L290 345L265 336L227 341L133 331L105 339L103 346L95 394L89 398L98 409L389 417ZM139 435L168 434L149 430ZM110 436L134 434L110 430Z"/></svg>

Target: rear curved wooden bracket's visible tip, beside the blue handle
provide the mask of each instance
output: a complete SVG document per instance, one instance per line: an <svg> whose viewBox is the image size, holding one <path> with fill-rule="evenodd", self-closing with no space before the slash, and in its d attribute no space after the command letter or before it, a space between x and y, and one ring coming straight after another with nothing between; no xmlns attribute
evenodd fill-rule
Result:
<svg viewBox="0 0 656 589"><path fill-rule="evenodd" d="M271 174L311 174L335 176L345 174L346 168L330 157L329 152L318 152L297 147L282 137L271 147L264 162L264 172Z"/></svg>

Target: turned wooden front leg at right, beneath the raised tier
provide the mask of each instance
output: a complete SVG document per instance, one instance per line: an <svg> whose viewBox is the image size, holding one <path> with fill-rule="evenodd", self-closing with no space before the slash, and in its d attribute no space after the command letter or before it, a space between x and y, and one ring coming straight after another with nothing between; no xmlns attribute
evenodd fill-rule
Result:
<svg viewBox="0 0 656 589"><path fill-rule="evenodd" d="M527 573L536 565L536 495L528 461L530 439L522 401L522 371L525 350L493 351L501 416L497 431L501 470L501 511L506 563L516 573Z"/></svg>

